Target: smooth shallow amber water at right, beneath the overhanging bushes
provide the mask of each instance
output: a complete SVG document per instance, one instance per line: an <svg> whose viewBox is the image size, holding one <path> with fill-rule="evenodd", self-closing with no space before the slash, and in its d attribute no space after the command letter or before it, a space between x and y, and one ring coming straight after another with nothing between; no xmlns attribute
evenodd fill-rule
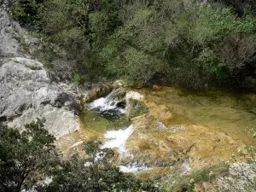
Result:
<svg viewBox="0 0 256 192"><path fill-rule="evenodd" d="M256 95L214 91L188 91L175 87L137 90L145 102L155 108L164 105L172 113L167 127L203 125L209 129L256 146L256 139L248 132L256 129Z"/></svg>

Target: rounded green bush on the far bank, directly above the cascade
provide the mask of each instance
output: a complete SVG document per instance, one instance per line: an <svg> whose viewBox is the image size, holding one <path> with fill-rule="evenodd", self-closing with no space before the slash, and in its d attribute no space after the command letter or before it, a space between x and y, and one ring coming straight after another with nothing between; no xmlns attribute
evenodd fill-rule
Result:
<svg viewBox="0 0 256 192"><path fill-rule="evenodd" d="M165 62L158 57L159 49L163 50L164 46L156 38L157 29L154 26L148 29L154 12L143 8L134 11L132 18L125 20L124 26L119 27L109 38L100 55L106 63L107 75L144 85L150 83L155 74L164 70Z"/></svg>

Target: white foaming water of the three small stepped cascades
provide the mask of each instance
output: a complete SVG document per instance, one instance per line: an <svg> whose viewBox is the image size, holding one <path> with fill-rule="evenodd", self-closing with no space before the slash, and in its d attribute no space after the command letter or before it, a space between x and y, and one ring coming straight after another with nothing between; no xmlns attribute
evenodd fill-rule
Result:
<svg viewBox="0 0 256 192"><path fill-rule="evenodd" d="M113 118L119 119L121 115L126 113L125 105L120 107L119 103L125 101L125 91L122 89L113 90L108 96L96 99L88 104L88 108L96 113L102 114L105 119L112 120ZM111 117L112 119L110 119ZM120 127L124 127L121 125ZM105 143L102 148L117 148L119 154L128 157L130 154L127 153L125 143L131 137L134 132L134 126L130 125L126 128L119 130L106 131L104 134ZM132 155L131 155L132 156ZM97 158L96 158L97 159ZM119 166L121 172L141 172L150 170L148 166L143 163L127 163Z"/></svg>

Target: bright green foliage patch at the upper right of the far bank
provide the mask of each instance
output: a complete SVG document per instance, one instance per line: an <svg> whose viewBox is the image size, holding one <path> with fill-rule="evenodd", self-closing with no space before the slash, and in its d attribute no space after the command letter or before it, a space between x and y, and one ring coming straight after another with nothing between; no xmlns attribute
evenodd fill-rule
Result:
<svg viewBox="0 0 256 192"><path fill-rule="evenodd" d="M192 40L202 44L218 40L229 34L247 34L253 32L255 20L241 19L234 15L229 8L202 7L198 19L191 31Z"/></svg>

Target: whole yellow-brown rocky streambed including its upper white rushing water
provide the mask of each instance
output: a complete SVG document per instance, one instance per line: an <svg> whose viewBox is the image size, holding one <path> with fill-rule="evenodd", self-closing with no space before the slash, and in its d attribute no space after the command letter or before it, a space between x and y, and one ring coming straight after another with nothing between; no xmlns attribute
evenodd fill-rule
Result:
<svg viewBox="0 0 256 192"><path fill-rule="evenodd" d="M221 91L188 94L187 90L160 86L126 89L124 98L113 96L113 92L90 102L80 115L79 131L59 139L57 145L65 153L98 139L105 143L103 147L116 150L119 165L139 162L159 175L173 167L188 173L216 165L230 160L232 154L242 156L243 144L255 145L248 133L255 125L255 114L250 113L253 95L237 97ZM128 102L131 100L143 102L148 111L129 120L128 112L139 108ZM122 101L126 101L125 108L119 108ZM120 112L124 116L119 116ZM108 113L117 115L121 123L109 120Z"/></svg>

